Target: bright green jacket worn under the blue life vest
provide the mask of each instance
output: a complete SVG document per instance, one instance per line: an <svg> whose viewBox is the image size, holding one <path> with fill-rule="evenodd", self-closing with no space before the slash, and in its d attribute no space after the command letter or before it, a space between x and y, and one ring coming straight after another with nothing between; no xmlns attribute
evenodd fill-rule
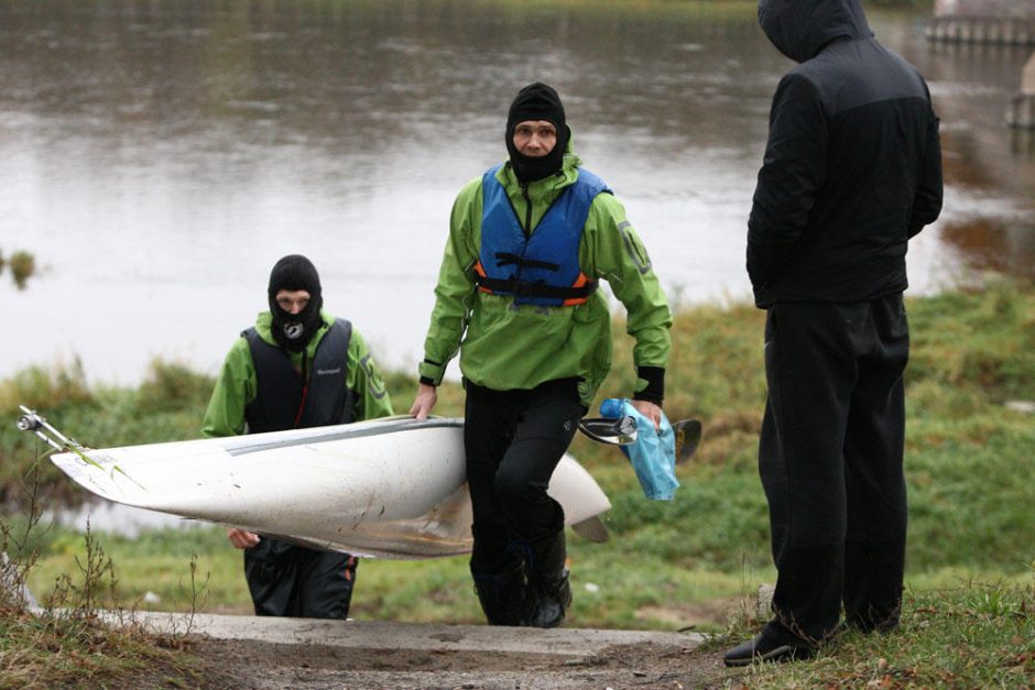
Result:
<svg viewBox="0 0 1035 690"><path fill-rule="evenodd" d="M577 177L581 161L570 147L562 173L536 180L526 188L508 162L497 178L506 189L519 222L524 227L529 205L535 228L551 204ZM481 177L469 182L457 196L449 239L435 288L424 362L423 381L438 385L449 360L460 352L466 379L497 391L533 388L556 379L577 376L579 395L587 407L611 366L611 313L600 291L575 307L514 306L513 297L477 289L473 266L481 248ZM527 228L525 231L527 232ZM628 311L627 331L635 339L638 368L664 370L668 364L672 314L621 202L610 194L598 195L589 210L579 248L582 272L603 278ZM639 379L636 391L647 385Z"/></svg>

